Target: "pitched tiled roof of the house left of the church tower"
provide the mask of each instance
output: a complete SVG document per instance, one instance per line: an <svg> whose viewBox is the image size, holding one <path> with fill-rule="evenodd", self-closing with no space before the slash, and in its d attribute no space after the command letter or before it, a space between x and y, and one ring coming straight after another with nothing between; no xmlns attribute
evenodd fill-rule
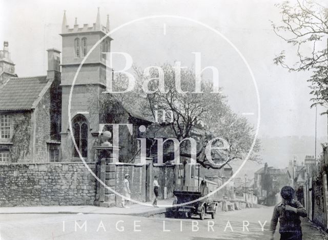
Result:
<svg viewBox="0 0 328 240"><path fill-rule="evenodd" d="M50 84L46 78L47 76L10 78L0 89L0 111L35 108L35 103Z"/></svg>

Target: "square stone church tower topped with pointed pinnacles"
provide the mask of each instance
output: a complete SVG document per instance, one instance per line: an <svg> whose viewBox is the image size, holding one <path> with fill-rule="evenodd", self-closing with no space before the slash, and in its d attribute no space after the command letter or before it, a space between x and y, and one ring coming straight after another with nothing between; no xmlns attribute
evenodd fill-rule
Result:
<svg viewBox="0 0 328 240"><path fill-rule="evenodd" d="M106 91L106 54L110 51L112 38L107 36L90 53L81 67L69 99L74 75L90 49L109 32L109 19L106 27L100 23L99 8L96 22L89 26L79 26L77 19L73 28L67 23L64 12L61 37L63 42L61 61L62 114L61 114L61 152L64 161L80 161L72 142L69 122L76 145L86 161L93 161L92 146L99 128L99 97ZM71 119L68 104L71 104Z"/></svg>

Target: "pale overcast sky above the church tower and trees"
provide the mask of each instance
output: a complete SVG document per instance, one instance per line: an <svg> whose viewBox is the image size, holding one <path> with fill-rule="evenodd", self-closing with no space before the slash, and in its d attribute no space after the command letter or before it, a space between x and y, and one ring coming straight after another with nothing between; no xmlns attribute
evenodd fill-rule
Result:
<svg viewBox="0 0 328 240"><path fill-rule="evenodd" d="M9 41L18 76L46 73L46 49L61 50L61 22L66 10L68 24L95 22L100 7L101 23L110 16L111 29L133 19L170 14L209 25L242 53L254 72L261 104L259 136L314 135L315 109L310 109L310 72L288 73L273 58L289 46L277 37L271 21L281 19L274 6L279 1L17 1L0 3L0 41ZM165 27L164 27L165 26ZM164 29L165 30L165 34ZM112 51L125 51L140 67L181 61L195 62L192 52L202 53L202 67L219 69L220 86L232 108L252 112L257 121L257 99L251 75L237 52L222 37L198 24L174 18L140 21L112 34ZM288 51L289 53L289 51ZM293 52L291 52L293 54ZM291 56L291 61L295 59ZM318 109L318 112L325 109ZM318 115L318 136L326 136L326 116Z"/></svg>

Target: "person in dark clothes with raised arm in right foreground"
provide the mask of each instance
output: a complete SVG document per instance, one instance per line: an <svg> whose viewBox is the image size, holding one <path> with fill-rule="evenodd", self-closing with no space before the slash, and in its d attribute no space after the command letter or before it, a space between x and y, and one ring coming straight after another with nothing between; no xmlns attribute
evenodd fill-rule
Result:
<svg viewBox="0 0 328 240"><path fill-rule="evenodd" d="M291 186L284 186L280 195L282 201L275 206L270 231L272 233L271 240L274 239L273 234L279 219L280 240L302 240L301 217L306 217L308 214L298 201L294 200L295 190Z"/></svg>

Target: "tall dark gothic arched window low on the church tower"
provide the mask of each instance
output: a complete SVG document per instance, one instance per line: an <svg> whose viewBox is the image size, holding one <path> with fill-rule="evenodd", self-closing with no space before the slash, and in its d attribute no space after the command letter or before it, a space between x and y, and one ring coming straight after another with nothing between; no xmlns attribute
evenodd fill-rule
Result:
<svg viewBox="0 0 328 240"><path fill-rule="evenodd" d="M73 119L73 134L78 150L83 157L88 157L88 122L83 115L77 115ZM79 157L74 148L74 157Z"/></svg>

